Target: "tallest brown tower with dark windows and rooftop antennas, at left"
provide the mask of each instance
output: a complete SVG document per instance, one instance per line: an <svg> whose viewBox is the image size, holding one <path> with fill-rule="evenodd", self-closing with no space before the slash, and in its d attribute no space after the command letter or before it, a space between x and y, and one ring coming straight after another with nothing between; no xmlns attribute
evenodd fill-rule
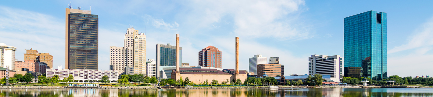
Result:
<svg viewBox="0 0 433 97"><path fill-rule="evenodd" d="M98 69L98 15L66 8L66 69Z"/></svg>

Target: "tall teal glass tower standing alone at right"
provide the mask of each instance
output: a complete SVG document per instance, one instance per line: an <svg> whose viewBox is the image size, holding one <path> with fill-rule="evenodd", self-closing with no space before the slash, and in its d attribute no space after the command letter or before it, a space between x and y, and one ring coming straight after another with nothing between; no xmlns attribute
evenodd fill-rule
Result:
<svg viewBox="0 0 433 97"><path fill-rule="evenodd" d="M368 11L344 18L344 74L384 79L386 53L386 13Z"/></svg>

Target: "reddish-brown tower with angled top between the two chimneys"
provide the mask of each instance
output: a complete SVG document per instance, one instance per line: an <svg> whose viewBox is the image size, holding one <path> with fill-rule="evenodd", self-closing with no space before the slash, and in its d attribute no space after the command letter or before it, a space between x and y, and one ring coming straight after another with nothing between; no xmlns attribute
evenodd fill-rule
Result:
<svg viewBox="0 0 433 97"><path fill-rule="evenodd" d="M198 65L204 67L221 68L221 51L209 46L198 52Z"/></svg>

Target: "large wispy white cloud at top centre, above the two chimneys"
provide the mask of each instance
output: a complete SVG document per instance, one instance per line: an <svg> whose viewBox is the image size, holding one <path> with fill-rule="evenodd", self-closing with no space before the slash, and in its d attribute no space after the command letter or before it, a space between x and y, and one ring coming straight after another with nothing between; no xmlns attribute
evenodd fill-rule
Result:
<svg viewBox="0 0 433 97"><path fill-rule="evenodd" d="M234 32L246 37L274 37L282 40L310 38L310 28L299 21L303 0L193 0L187 20L200 26L212 26L224 16L233 18Z"/></svg>

